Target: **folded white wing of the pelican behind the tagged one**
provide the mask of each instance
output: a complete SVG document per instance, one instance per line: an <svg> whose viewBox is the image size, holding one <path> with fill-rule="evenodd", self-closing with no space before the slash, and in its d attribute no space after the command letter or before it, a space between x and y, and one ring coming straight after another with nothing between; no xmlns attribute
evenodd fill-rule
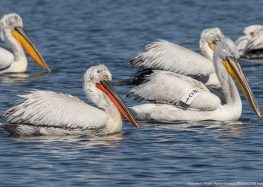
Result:
<svg viewBox="0 0 263 187"><path fill-rule="evenodd" d="M130 65L172 71L183 75L209 75L214 72L213 63L198 53L175 43L159 40L146 46Z"/></svg>

